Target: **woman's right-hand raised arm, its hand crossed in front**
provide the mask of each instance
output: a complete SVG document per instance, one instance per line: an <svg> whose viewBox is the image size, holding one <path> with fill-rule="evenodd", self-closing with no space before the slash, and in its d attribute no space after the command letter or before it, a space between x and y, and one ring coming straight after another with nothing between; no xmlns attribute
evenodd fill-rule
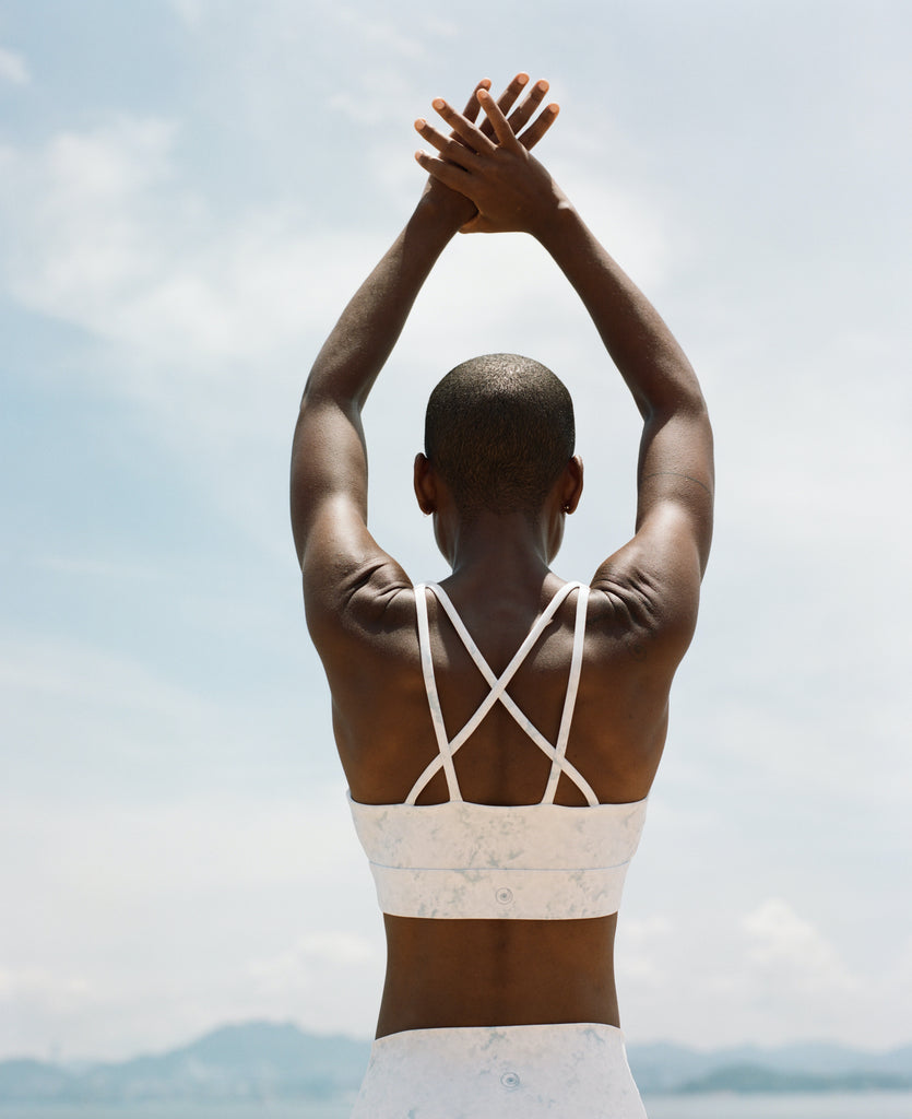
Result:
<svg viewBox="0 0 912 1119"><path fill-rule="evenodd" d="M593 585L628 599L643 595L647 610L664 611L659 628L676 631L686 645L712 537L713 442L699 383L652 304L545 168L507 134L492 98L485 91L478 96L497 145L483 143L473 124L435 102L467 147L420 122L439 158L420 152L417 161L474 204L478 216L467 232L532 234L585 304L643 419L636 536L601 565Z"/></svg>

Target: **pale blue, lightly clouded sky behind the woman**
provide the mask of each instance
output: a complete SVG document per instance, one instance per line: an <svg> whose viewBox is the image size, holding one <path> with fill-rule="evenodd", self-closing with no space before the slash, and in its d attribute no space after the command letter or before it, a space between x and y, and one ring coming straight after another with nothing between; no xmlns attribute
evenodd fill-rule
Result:
<svg viewBox="0 0 912 1119"><path fill-rule="evenodd" d="M310 363L421 192L415 117L547 77L536 154L704 385L717 527L628 876L631 1043L912 1043L910 77L902 2L0 8L0 1057L251 1018L373 1033L382 922L309 645ZM632 532L639 424L523 235L459 237L365 424L374 535L433 384L570 386L555 570Z"/></svg>

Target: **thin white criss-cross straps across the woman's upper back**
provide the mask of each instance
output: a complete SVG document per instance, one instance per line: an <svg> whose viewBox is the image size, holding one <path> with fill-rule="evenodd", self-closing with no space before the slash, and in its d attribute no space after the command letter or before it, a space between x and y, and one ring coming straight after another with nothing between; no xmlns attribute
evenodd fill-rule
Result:
<svg viewBox="0 0 912 1119"><path fill-rule="evenodd" d="M491 690L481 702L479 707L476 709L474 714L471 716L468 723L462 727L462 730L453 739L448 739L446 730L443 724L443 714L440 707L440 697L436 689L436 679L434 677L434 665L431 656L431 637L427 626L427 602L425 598L425 591L430 587L436 595L444 611L446 612L450 621L453 623L453 628L459 634L462 643L466 646L469 656L474 661L478 670L485 677L487 683L491 686ZM532 723L532 721L520 711L513 698L507 694L507 685L513 679L519 666L526 659L529 650L542 636L545 627L548 624L551 619L554 617L557 608L564 601L564 599L573 591L579 590L580 598L576 604L576 626L574 630L574 641L573 641L573 656L571 659L571 670L570 679L567 681L567 692L564 698L564 709L561 716L561 727L557 736L557 744L552 745L548 740L542 734L542 732ZM599 798L592 790L592 787L582 777L582 774L576 770L576 768L566 760L564 752L566 751L567 739L570 736L570 725L573 718L573 707L576 700L576 690L580 683L580 671L582 668L582 652L583 652L583 638L585 637L585 614L586 614L586 603L589 600L589 587L584 586L582 583L565 583L554 595L551 602L547 604L543 613L536 619L535 624L529 630L526 639L517 649L513 660L504 669L501 675L498 677L491 669L488 661L481 653L481 650L476 645L472 636L466 629L462 619L457 613L455 606L450 601L450 596L443 590L442 586L436 584L420 584L415 587L415 605L417 612L417 623L419 623L419 642L421 646L421 664L422 673L424 675L424 685L427 692L427 704L431 711L431 718L434 724L434 733L438 740L439 754L434 758L424 769L424 772L417 779L412 788L412 791L406 797L406 805L414 805L417 797L425 788L427 782L441 770L443 769L446 777L446 787L449 790L451 800L462 800L462 794L459 790L459 782L457 780L455 770L453 768L453 754L459 750L459 747L467 741L467 739L473 733L478 727L491 707L500 702L510 713L510 715L516 720L519 726L528 734L533 742L546 753L552 759L552 771L548 778L547 788L545 789L545 794L543 797L543 802L552 802L554 800L554 794L557 790L557 782L561 779L561 773L566 773L567 777L574 782L574 784L580 789L583 796L586 798L587 803L594 806L599 803Z"/></svg>

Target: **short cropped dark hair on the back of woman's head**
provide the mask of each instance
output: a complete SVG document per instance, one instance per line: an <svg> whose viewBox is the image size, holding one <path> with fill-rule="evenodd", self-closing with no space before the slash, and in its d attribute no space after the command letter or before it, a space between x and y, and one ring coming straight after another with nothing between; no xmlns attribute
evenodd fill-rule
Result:
<svg viewBox="0 0 912 1119"><path fill-rule="evenodd" d="M464 517L538 513L575 439L563 382L518 354L463 361L427 402L424 453Z"/></svg>

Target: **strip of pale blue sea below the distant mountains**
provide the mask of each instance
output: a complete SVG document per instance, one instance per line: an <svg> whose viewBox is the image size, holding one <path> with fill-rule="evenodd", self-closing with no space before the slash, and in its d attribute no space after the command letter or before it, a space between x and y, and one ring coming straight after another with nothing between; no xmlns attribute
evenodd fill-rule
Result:
<svg viewBox="0 0 912 1119"><path fill-rule="evenodd" d="M912 1119L912 1092L647 1096L649 1119ZM4 1103L0 1119L348 1119L337 1103Z"/></svg>

